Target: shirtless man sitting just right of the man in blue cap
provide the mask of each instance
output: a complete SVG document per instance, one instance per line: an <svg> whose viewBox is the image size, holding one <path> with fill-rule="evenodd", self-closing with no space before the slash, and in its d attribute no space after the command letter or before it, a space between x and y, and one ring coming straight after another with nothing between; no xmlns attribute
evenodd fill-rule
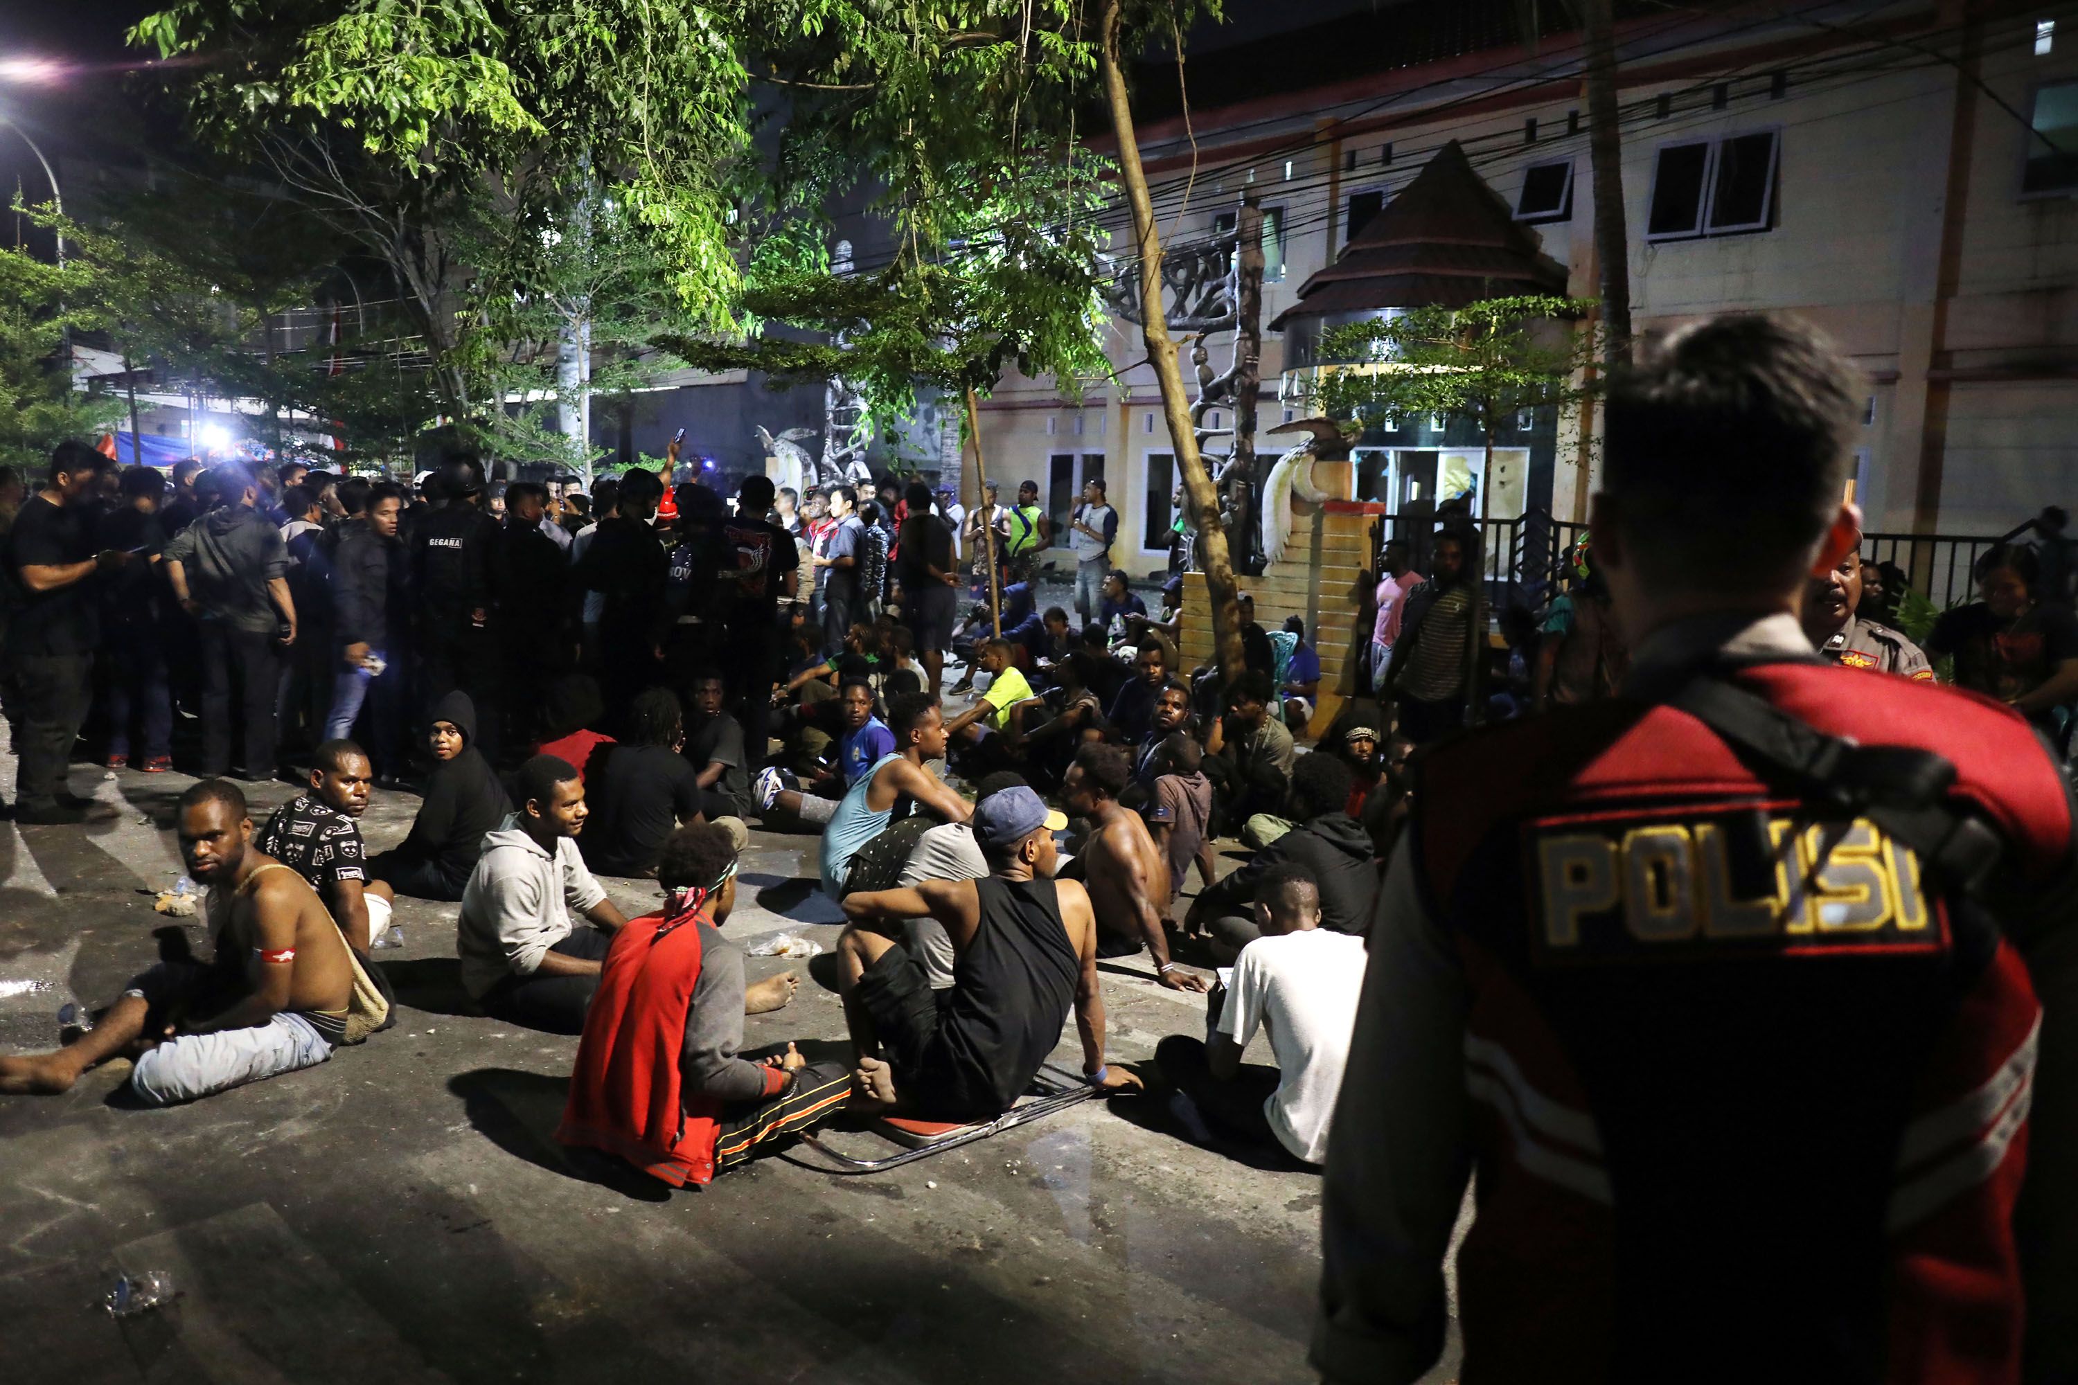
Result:
<svg viewBox="0 0 2078 1385"><path fill-rule="evenodd" d="M1089 887L1097 909L1097 955L1130 957L1147 947L1155 980L1170 990L1203 990L1205 978L1170 961L1162 909L1170 901L1168 858L1141 822L1118 802L1133 770L1118 745L1085 745L1068 766L1060 799L1068 812L1091 820L1089 843L1070 868Z"/></svg>

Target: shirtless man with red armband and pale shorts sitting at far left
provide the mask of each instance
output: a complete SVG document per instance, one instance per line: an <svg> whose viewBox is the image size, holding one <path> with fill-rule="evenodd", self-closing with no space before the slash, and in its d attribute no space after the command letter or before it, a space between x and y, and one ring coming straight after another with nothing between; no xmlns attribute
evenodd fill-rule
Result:
<svg viewBox="0 0 2078 1385"><path fill-rule="evenodd" d="M66 1092L110 1057L154 1107L314 1067L345 1038L353 959L295 870L251 847L245 795L204 779L181 795L181 858L210 887L212 963L160 961L56 1053L0 1059L0 1092Z"/></svg>

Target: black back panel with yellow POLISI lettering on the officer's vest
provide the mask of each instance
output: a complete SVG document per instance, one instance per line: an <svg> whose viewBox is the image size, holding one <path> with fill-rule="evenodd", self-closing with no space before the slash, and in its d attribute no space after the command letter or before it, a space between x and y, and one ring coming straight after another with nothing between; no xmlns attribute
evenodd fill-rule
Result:
<svg viewBox="0 0 2078 1385"><path fill-rule="evenodd" d="M1939 953L1947 916L1920 864L1868 818L1719 802L1523 824L1540 966Z"/></svg>

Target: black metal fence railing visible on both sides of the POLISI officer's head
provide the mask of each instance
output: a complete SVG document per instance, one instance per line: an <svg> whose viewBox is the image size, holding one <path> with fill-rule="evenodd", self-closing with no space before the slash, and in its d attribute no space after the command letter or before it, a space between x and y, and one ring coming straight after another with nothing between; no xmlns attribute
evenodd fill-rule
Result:
<svg viewBox="0 0 2078 1385"><path fill-rule="evenodd" d="M1480 529L1477 561L1494 610L1509 606L1540 610L1548 604L1561 586L1567 552L1588 529L1586 523L1552 519L1544 511L1515 519L1486 519L1473 527ZM1895 565L1916 592L1945 610L1976 594L1972 569L1984 550L2022 536L2026 527L2007 534L1864 534L1862 556ZM1382 550L1386 540L1407 538L1413 544L1415 571L1428 571L1436 515L1426 507L1380 515L1376 546Z"/></svg>

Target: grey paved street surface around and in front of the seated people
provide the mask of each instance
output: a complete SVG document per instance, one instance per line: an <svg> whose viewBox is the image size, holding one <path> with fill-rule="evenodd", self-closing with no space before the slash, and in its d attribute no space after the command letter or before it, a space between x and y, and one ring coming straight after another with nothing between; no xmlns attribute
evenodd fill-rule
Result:
<svg viewBox="0 0 2078 1385"><path fill-rule="evenodd" d="M0 789L12 797L12 758ZM75 766L114 824L0 822L0 1047L50 1047L66 999L112 999L166 926L177 775ZM256 791L256 820L293 793ZM372 849L416 797L378 793ZM729 932L829 949L812 837L756 833ZM650 882L609 882L623 912ZM551 1134L574 1038L470 1013L459 905L401 901L378 953L399 1024L318 1069L168 1111L121 1063L69 1096L0 1096L4 1381L1303 1381L1320 1179L1193 1144L1166 1103L1085 1103L869 1177L761 1161L709 1192L574 1165ZM195 945L202 930L189 920ZM750 980L817 963L750 959ZM1112 1051L1197 1032L1197 997L1105 963ZM748 1020L752 1053L837 1055L815 980ZM1060 1061L1076 1063L1074 1026ZM1257 1055L1251 1055L1257 1057ZM1261 1061L1268 1061L1263 1055ZM867 1132L850 1148L883 1150ZM168 1310L98 1308L170 1271ZM1442 1379L1442 1373L1438 1375Z"/></svg>

